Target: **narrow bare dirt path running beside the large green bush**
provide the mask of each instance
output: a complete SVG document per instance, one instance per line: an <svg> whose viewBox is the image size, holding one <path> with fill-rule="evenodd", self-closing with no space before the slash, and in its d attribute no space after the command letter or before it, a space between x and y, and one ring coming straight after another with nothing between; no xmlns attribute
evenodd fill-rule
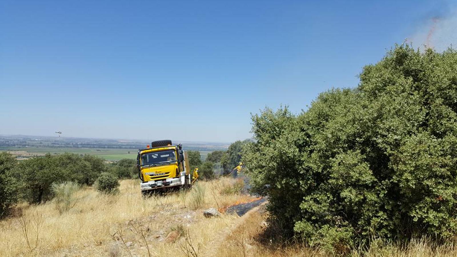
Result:
<svg viewBox="0 0 457 257"><path fill-rule="evenodd" d="M255 203L255 202L253 202ZM207 245L207 247L204 248L204 250L199 253L199 256L217 256L219 252L220 246L223 244L223 242L227 241L227 237L230 236L230 234L239 228L241 225L243 225L246 220L248 220L251 216L251 214L257 212L260 208L262 208L263 205L267 203L266 200L262 201L258 206L254 207L253 209L250 209L248 212L246 212L243 216L241 216L238 220L236 220L235 224L232 226L224 229L218 236L213 239L213 241L210 241ZM251 205L252 206L252 205Z"/></svg>

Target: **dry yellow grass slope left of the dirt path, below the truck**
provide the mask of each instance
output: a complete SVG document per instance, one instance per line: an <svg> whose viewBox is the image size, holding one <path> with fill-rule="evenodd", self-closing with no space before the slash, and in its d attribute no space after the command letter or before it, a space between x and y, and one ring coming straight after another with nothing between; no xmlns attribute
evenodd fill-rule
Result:
<svg viewBox="0 0 457 257"><path fill-rule="evenodd" d="M233 204L238 194L222 195L223 178L199 182L205 188L203 205L192 210L191 191L142 198L137 180L121 181L120 193L101 195L92 187L76 193L79 199L59 214L52 202L21 204L16 215L0 222L1 256L186 256L186 237L202 251L218 232L234 223L236 215L206 219L202 209ZM171 227L185 234L175 243L164 239ZM24 233L24 229L27 230ZM27 237L25 236L27 234ZM28 241L28 242L27 242Z"/></svg>

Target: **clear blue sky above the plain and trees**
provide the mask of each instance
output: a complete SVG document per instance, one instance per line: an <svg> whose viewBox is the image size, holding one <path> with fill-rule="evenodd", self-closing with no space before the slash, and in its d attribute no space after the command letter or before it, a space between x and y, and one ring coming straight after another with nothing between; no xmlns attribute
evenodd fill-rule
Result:
<svg viewBox="0 0 457 257"><path fill-rule="evenodd" d="M0 0L0 134L249 138L251 112L299 113L357 86L364 65L453 6Z"/></svg>

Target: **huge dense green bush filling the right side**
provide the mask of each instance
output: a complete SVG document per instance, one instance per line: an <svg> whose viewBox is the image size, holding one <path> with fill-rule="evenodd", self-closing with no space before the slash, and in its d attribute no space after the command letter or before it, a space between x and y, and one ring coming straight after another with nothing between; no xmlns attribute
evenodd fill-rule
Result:
<svg viewBox="0 0 457 257"><path fill-rule="evenodd" d="M244 153L273 217L311 246L457 233L457 53L396 46L356 89L254 115ZM268 185L268 187L265 187Z"/></svg>

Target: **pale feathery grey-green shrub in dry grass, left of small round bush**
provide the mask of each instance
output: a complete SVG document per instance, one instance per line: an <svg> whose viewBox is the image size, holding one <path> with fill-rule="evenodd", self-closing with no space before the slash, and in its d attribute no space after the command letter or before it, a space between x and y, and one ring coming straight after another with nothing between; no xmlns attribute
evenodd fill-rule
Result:
<svg viewBox="0 0 457 257"><path fill-rule="evenodd" d="M54 203L59 214L69 211L77 203L77 198L74 198L80 186L75 182L64 182L61 184L52 184L52 192L54 194Z"/></svg>

